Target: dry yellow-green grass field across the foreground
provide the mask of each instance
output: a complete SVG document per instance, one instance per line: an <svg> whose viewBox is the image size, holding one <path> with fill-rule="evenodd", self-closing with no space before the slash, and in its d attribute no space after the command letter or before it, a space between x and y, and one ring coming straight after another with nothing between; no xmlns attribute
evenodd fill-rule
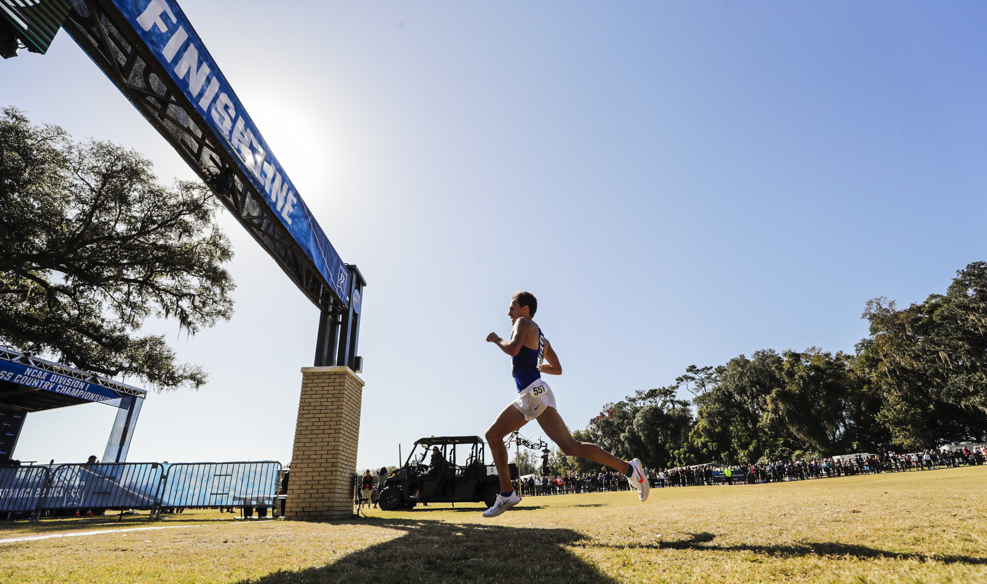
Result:
<svg viewBox="0 0 987 584"><path fill-rule="evenodd" d="M4 522L2 582L987 582L987 466L370 510L342 523L215 511ZM117 532L140 527L176 529Z"/></svg>

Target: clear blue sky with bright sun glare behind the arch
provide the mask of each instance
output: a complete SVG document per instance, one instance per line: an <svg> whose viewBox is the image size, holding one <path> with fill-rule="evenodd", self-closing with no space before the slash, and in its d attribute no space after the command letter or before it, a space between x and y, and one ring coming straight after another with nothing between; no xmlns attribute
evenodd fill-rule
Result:
<svg viewBox="0 0 987 584"><path fill-rule="evenodd" d="M987 259L982 3L182 6L369 283L361 468L513 399L484 338L514 290L539 298L575 429L691 364L852 351L868 299ZM192 177L64 33L0 63L0 105ZM148 324L211 382L151 396L132 461L290 459L318 314L222 220L233 319ZM113 413L31 414L16 456L100 456Z"/></svg>

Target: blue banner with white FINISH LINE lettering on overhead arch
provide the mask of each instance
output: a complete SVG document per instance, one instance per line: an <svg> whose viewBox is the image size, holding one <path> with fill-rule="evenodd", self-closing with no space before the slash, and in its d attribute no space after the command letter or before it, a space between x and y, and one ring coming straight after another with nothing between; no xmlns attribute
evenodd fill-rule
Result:
<svg viewBox="0 0 987 584"><path fill-rule="evenodd" d="M349 271L340 255L179 5L174 0L114 0L114 4L160 62L160 69L154 70L167 71L178 84L303 253L348 305Z"/></svg>

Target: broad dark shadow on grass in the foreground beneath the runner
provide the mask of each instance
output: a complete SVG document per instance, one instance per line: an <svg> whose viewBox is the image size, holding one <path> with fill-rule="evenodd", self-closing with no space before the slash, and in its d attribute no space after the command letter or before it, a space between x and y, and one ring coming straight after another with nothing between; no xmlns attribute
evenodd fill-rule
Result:
<svg viewBox="0 0 987 584"><path fill-rule="evenodd" d="M404 532L333 563L282 570L239 584L570 582L616 584L566 546L583 540L568 529L528 529L433 520L377 519L360 525Z"/></svg>

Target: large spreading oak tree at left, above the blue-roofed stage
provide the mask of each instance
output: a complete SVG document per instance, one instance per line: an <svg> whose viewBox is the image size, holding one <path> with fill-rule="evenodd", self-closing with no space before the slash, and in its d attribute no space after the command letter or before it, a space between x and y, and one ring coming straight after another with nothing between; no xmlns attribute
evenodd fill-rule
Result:
<svg viewBox="0 0 987 584"><path fill-rule="evenodd" d="M149 318L194 334L228 320L233 252L201 183L157 182L150 161L0 116L0 342L157 389L206 381Z"/></svg>

